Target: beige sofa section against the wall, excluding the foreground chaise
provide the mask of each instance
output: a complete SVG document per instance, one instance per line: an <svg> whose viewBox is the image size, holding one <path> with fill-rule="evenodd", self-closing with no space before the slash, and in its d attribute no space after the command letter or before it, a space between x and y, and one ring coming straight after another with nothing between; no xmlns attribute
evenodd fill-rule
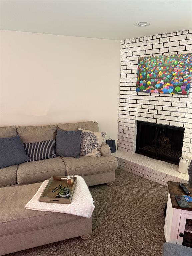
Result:
<svg viewBox="0 0 192 256"><path fill-rule="evenodd" d="M99 131L95 121L48 125L48 126L20 126L0 127L0 138L19 135L23 143L38 142L55 139L57 129L77 131L81 126L91 131ZM103 143L100 157L80 156L56 157L34 162L25 162L0 169L0 187L15 184L30 184L50 179L51 176L65 176L68 174L83 176L88 186L107 183L111 185L115 180L117 160L111 156L110 148Z"/></svg>

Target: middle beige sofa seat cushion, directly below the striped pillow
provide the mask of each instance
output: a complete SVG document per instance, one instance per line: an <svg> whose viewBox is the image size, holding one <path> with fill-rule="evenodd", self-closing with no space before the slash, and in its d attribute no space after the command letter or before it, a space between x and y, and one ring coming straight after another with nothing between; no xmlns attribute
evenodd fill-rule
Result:
<svg viewBox="0 0 192 256"><path fill-rule="evenodd" d="M66 168L60 156L19 164L17 183L29 184L50 179L51 176L65 176Z"/></svg>

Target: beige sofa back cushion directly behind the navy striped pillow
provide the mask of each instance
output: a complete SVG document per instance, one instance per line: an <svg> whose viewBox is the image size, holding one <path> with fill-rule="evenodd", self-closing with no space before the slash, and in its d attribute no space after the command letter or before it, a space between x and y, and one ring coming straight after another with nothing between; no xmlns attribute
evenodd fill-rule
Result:
<svg viewBox="0 0 192 256"><path fill-rule="evenodd" d="M57 127L55 125L19 126L17 133L22 143L31 143L55 139L56 129Z"/></svg>

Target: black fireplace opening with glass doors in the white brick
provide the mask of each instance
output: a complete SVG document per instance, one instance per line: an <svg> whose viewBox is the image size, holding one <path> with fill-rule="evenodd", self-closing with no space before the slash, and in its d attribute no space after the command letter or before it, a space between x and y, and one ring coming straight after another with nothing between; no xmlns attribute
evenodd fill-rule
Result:
<svg viewBox="0 0 192 256"><path fill-rule="evenodd" d="M179 165L184 128L137 121L136 153Z"/></svg>

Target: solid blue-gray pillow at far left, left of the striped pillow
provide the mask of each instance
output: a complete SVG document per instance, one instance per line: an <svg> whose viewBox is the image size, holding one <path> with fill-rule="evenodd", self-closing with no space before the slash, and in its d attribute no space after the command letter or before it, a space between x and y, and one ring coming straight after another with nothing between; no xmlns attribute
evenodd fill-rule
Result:
<svg viewBox="0 0 192 256"><path fill-rule="evenodd" d="M23 163L29 159L18 135L0 138L0 169Z"/></svg>

